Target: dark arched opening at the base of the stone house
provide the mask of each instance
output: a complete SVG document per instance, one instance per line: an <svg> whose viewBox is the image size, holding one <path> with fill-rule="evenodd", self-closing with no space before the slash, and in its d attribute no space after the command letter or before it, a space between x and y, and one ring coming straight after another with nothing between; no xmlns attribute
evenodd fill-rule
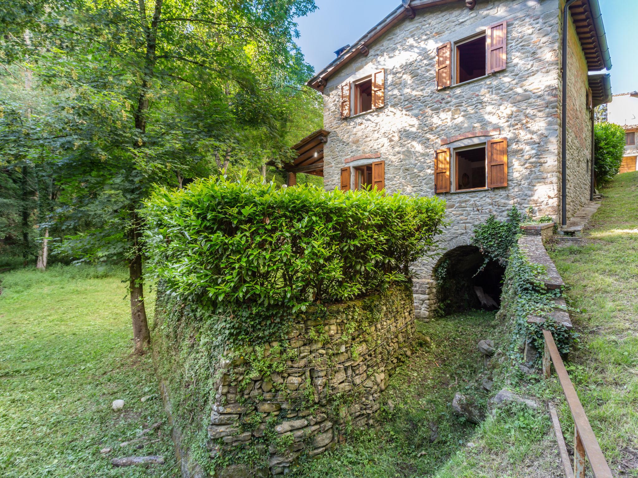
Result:
<svg viewBox="0 0 638 478"><path fill-rule="evenodd" d="M479 272L484 260L479 248L473 245L455 247L440 257L433 269L438 315L498 308L505 268L489 261Z"/></svg>

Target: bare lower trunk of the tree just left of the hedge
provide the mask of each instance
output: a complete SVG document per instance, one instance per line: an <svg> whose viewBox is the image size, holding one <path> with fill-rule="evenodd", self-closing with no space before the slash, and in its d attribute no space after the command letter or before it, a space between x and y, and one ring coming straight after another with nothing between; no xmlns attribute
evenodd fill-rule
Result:
<svg viewBox="0 0 638 478"><path fill-rule="evenodd" d="M142 251L140 250L140 220L133 211L133 220L129 230L129 238L133 243L132 253L128 263L129 292L131 294L131 320L133 321L133 342L135 354L143 354L151 345L149 323L146 320L144 307L144 278L142 277Z"/></svg>

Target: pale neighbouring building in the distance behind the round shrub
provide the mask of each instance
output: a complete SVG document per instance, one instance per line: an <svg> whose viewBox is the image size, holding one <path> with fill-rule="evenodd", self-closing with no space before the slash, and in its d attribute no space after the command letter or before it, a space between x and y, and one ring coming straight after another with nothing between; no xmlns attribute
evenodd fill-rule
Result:
<svg viewBox="0 0 638 478"><path fill-rule="evenodd" d="M638 91L614 94L614 101L607 105L607 121L625 129L625 155L618 173L637 170L638 166Z"/></svg>

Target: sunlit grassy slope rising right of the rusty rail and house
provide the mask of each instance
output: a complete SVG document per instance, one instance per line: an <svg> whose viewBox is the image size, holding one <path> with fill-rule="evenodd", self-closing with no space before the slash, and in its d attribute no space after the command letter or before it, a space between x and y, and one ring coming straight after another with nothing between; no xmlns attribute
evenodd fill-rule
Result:
<svg viewBox="0 0 638 478"><path fill-rule="evenodd" d="M586 244L551 256L582 311L572 314L582 334L572 381L612 470L638 476L638 173L618 175L603 192ZM566 405L560 411L570 421Z"/></svg>

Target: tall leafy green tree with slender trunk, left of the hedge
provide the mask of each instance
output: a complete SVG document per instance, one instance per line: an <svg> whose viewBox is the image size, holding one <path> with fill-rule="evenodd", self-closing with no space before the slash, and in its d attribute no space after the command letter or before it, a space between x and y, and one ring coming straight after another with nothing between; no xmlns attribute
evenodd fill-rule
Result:
<svg viewBox="0 0 638 478"><path fill-rule="evenodd" d="M8 6L7 0L0 0ZM290 112L313 94L293 19L313 0L11 1L4 58L56 91L27 147L54 149L68 237L61 252L126 260L135 351L149 331L137 209L228 163L290 156ZM24 32L30 31L25 40Z"/></svg>

